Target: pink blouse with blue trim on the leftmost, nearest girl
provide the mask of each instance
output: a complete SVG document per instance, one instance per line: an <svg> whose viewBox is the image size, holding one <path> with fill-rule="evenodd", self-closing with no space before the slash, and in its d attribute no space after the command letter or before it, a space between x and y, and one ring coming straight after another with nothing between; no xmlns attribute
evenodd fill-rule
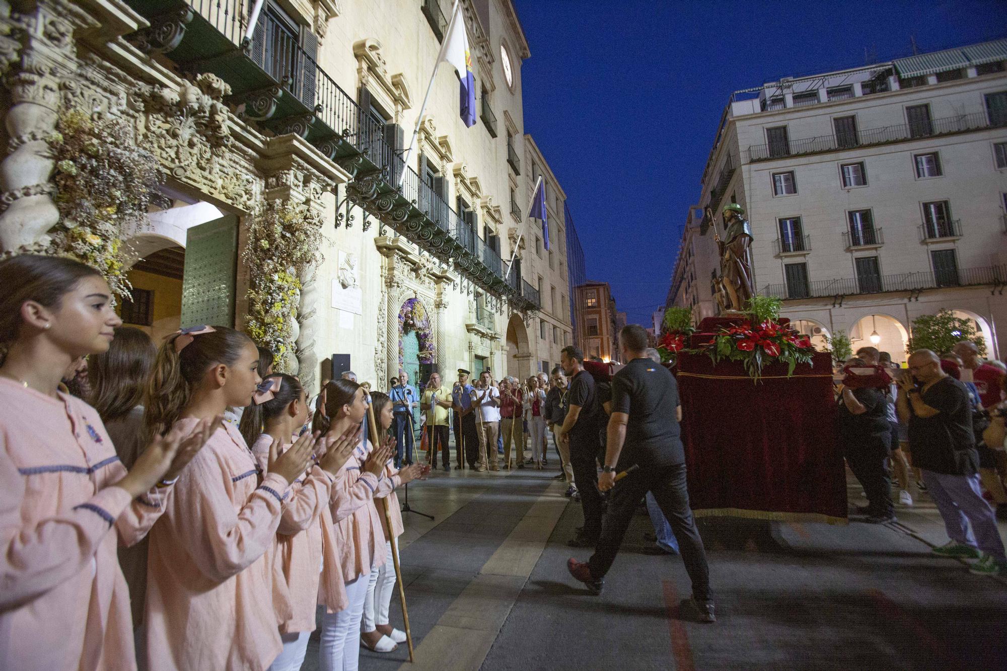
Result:
<svg viewBox="0 0 1007 671"><path fill-rule="evenodd" d="M147 533L174 488L131 501L115 487L126 468L78 398L0 378L0 669L135 669L116 548Z"/></svg>

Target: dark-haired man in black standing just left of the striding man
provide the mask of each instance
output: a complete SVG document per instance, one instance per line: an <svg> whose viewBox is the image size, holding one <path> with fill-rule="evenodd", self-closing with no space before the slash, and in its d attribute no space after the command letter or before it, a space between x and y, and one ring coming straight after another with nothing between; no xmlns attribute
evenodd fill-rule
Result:
<svg viewBox="0 0 1007 671"><path fill-rule="evenodd" d="M584 353L572 345L565 347L560 351L560 365L570 378L570 392L567 394L566 418L563 425L556 429L556 437L570 446L570 465L580 492L580 505L584 509L584 526L568 544L593 547L601 534L602 503L597 483L598 458L601 456L598 428L602 410L594 378L584 370Z"/></svg>

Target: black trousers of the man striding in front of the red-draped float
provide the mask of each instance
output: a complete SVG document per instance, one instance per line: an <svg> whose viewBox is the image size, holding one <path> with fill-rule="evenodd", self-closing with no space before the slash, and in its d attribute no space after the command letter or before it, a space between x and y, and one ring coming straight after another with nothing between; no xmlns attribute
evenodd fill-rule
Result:
<svg viewBox="0 0 1007 671"><path fill-rule="evenodd" d="M641 467L612 488L601 538L598 539L597 548L588 561L591 576L600 579L612 567L633 513L648 492L654 495L661 512L672 525L675 539L679 541L682 561L685 562L686 572L689 573L693 583L693 596L700 601L713 598L710 591L710 569L706 563L706 550L696 528L692 509L689 508L689 490L686 488L684 463L657 468Z"/></svg>

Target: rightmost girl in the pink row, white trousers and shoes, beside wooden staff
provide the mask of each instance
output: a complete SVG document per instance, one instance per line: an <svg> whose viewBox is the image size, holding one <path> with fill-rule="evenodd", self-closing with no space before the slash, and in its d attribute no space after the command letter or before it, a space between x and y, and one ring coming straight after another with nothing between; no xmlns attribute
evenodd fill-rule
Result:
<svg viewBox="0 0 1007 671"><path fill-rule="evenodd" d="M395 413L392 408L392 399L388 394L372 392L371 403L375 410L375 421L378 422L378 435L387 436L392 422L395 420ZM368 650L386 653L392 652L399 647L398 644L406 642L406 633L392 627L388 622L388 612L392 603L392 594L395 591L395 560L392 557L392 538L402 535L402 510L399 507L399 498L395 495L394 489L390 486L399 486L412 482L430 472L430 466L413 464L396 471L392 463L385 465L385 478L382 480L383 487L375 494L375 505L378 506L378 519L381 520L382 531L385 533L385 563L378 567L378 570L371 572L371 580L368 583L368 592L364 599L364 624L361 640ZM385 483L388 485L385 485ZM386 519L384 504L379 500L385 499L388 505L388 517L391 518L391 528ZM397 546L398 547L398 546Z"/></svg>

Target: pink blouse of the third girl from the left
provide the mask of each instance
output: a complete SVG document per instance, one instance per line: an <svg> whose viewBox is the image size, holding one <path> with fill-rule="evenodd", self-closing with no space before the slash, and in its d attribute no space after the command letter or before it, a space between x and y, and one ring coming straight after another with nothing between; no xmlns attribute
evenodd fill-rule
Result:
<svg viewBox="0 0 1007 671"><path fill-rule="evenodd" d="M252 445L263 472L272 442L263 433ZM331 613L349 606L329 511L334 482L321 466L312 465L290 486L272 553L274 602L290 603L289 615L284 609L276 614L282 634L314 631L317 603Z"/></svg>

